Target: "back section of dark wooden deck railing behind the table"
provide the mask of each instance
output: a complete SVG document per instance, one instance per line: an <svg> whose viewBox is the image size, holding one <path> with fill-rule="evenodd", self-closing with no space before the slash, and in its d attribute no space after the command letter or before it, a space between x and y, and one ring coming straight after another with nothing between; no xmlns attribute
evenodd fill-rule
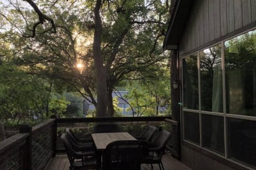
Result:
<svg viewBox="0 0 256 170"><path fill-rule="evenodd" d="M147 125L154 125L161 130L167 130L172 133L171 139L167 143L167 150L179 158L179 124L171 120L171 117L90 117L90 118L57 118L57 152L63 151L60 141L61 133L66 128L72 128L77 135L93 133L94 125L97 123L108 122L116 123L123 132L129 132L132 135L138 135Z"/></svg>

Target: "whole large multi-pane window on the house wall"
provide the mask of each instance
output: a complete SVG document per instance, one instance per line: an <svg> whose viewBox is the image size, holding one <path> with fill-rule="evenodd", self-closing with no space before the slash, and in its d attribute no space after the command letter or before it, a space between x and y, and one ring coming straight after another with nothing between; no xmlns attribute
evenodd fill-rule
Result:
<svg viewBox="0 0 256 170"><path fill-rule="evenodd" d="M182 92L183 139L256 168L256 30L182 58Z"/></svg>

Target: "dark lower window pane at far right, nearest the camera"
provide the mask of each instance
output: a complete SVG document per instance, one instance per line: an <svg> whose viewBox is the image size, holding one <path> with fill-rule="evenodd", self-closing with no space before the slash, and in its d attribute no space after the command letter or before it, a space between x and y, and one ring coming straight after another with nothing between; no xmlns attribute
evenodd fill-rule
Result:
<svg viewBox="0 0 256 170"><path fill-rule="evenodd" d="M228 118L229 157L256 167L256 121Z"/></svg>

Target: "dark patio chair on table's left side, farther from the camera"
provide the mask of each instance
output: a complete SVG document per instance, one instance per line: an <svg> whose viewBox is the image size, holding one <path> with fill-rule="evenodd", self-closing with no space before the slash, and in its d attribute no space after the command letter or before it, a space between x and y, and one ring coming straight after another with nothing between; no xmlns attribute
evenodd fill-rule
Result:
<svg viewBox="0 0 256 170"><path fill-rule="evenodd" d="M74 133L69 128L66 129L67 138L75 151L95 151L93 142L82 143L76 140Z"/></svg>

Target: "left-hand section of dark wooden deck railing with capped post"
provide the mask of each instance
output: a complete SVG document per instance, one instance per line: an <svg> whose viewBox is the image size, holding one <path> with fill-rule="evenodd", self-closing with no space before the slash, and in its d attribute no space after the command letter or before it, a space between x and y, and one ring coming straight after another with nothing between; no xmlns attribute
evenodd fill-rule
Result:
<svg viewBox="0 0 256 170"><path fill-rule="evenodd" d="M42 170L55 153L55 118L34 127L21 125L20 132L0 142L0 170Z"/></svg>

